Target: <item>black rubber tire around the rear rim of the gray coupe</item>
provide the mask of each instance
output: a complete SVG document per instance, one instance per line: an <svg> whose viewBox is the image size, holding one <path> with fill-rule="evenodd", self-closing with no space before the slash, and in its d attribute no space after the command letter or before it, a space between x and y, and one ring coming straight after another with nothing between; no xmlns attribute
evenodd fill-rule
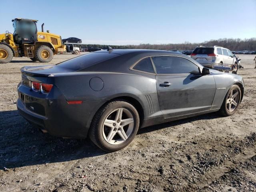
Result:
<svg viewBox="0 0 256 192"><path fill-rule="evenodd" d="M110 144L104 139L102 126L105 119L108 117L108 115L112 111L118 108L124 108L132 114L132 117L134 120L134 126L127 140L123 141L120 144ZM130 142L132 142L132 140L134 139L134 137L138 132L139 124L140 124L140 117L139 117L138 111L132 104L130 104L126 100L114 100L112 102L105 104L98 110L98 112L96 112L90 126L89 137L90 137L90 140L92 140L92 142L96 146L98 146L104 151L107 151L107 152L118 151L118 150L121 150L122 148L125 148L130 144Z"/></svg>

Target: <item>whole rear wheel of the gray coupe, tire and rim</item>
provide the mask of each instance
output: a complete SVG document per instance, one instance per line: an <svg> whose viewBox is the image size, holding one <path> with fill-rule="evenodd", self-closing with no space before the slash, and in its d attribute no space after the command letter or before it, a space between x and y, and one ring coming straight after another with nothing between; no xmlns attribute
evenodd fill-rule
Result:
<svg viewBox="0 0 256 192"><path fill-rule="evenodd" d="M136 108L125 100L109 102L95 114L90 139L104 151L125 148L138 132L140 118Z"/></svg>

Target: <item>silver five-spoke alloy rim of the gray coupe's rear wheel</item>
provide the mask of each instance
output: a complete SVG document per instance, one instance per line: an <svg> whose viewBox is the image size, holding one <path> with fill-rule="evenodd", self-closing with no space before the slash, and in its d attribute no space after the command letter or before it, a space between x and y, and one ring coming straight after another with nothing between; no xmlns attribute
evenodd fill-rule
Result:
<svg viewBox="0 0 256 192"><path fill-rule="evenodd" d="M110 112L102 125L102 134L109 144L121 144L126 141L134 129L134 117L126 108Z"/></svg>

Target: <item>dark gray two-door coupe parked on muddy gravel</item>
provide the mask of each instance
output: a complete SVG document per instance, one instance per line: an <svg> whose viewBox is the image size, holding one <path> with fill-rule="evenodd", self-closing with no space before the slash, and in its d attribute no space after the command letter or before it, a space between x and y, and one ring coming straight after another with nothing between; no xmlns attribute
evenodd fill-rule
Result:
<svg viewBox="0 0 256 192"><path fill-rule="evenodd" d="M43 132L126 147L139 127L237 110L244 81L160 50L102 50L50 66L23 67L17 107Z"/></svg>

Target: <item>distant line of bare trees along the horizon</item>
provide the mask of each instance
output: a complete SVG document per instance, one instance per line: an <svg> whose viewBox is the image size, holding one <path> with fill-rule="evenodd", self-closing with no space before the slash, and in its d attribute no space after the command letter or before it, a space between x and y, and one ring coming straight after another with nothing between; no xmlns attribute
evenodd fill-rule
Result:
<svg viewBox="0 0 256 192"><path fill-rule="evenodd" d="M139 45L100 45L100 44L84 44L82 48L99 47L107 49L111 46L114 49L157 49L157 50L194 50L196 46L222 46L232 51L239 50L256 50L256 38L240 39L240 38L222 38L218 40L210 40L202 43L184 42L179 44L139 44Z"/></svg>

